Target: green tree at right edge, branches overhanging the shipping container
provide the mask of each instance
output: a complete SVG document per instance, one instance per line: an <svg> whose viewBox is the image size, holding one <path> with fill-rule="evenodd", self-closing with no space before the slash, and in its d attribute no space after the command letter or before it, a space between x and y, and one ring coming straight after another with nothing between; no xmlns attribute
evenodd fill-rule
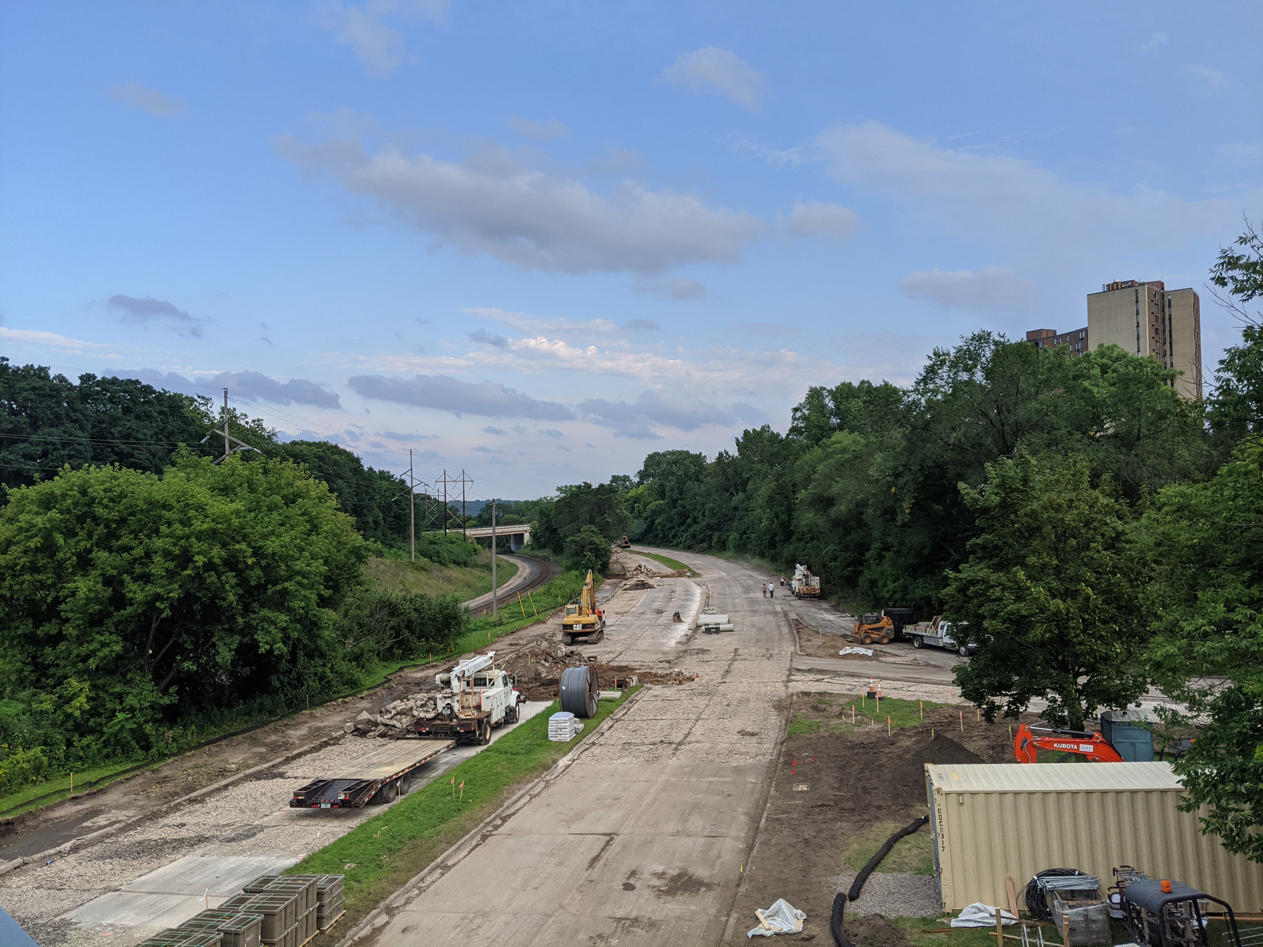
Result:
<svg viewBox="0 0 1263 947"><path fill-rule="evenodd" d="M1242 317L1219 362L1210 423L1230 457L1209 482L1163 489L1137 529L1151 569L1149 660L1163 692L1200 724L1176 763L1202 831L1263 862L1263 241L1247 223L1211 282Z"/></svg>

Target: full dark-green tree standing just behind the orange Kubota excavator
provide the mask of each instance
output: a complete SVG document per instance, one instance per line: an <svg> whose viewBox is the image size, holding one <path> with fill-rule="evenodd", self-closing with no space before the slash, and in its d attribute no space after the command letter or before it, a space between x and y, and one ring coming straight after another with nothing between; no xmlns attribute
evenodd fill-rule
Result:
<svg viewBox="0 0 1263 947"><path fill-rule="evenodd" d="M1111 480L1094 487L1084 458L1019 453L988 465L981 489L960 490L978 535L947 575L943 605L952 635L979 648L956 669L961 694L988 720L1043 697L1046 720L1082 730L1099 707L1144 693L1130 510Z"/></svg>

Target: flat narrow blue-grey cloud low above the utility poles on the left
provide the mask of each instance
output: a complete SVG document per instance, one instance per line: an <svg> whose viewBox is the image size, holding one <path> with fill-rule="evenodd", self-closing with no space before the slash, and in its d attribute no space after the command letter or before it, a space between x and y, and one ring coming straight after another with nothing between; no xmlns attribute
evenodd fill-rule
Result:
<svg viewBox="0 0 1263 947"><path fill-rule="evenodd" d="M417 375L412 379L359 375L347 379L356 394L395 404L451 412L456 417L534 418L570 420L575 412L557 402L539 402L494 381L471 384L450 376Z"/></svg>

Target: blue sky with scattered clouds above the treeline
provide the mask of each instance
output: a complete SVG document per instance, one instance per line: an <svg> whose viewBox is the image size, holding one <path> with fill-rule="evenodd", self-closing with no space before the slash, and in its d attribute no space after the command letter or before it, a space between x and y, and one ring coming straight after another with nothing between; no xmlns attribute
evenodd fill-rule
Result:
<svg viewBox="0 0 1263 947"><path fill-rule="evenodd" d="M634 474L978 327L1201 289L1260 8L0 5L0 354L477 496Z"/></svg>

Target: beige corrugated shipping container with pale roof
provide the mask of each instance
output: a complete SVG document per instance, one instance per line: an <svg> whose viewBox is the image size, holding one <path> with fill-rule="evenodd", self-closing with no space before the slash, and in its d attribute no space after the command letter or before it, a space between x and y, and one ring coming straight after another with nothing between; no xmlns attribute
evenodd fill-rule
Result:
<svg viewBox="0 0 1263 947"><path fill-rule="evenodd" d="M1183 789L1168 763L926 764L926 785L943 910L1007 904L1005 875L1021 889L1075 867L1109 886L1119 865L1263 909L1263 867L1176 808Z"/></svg>

